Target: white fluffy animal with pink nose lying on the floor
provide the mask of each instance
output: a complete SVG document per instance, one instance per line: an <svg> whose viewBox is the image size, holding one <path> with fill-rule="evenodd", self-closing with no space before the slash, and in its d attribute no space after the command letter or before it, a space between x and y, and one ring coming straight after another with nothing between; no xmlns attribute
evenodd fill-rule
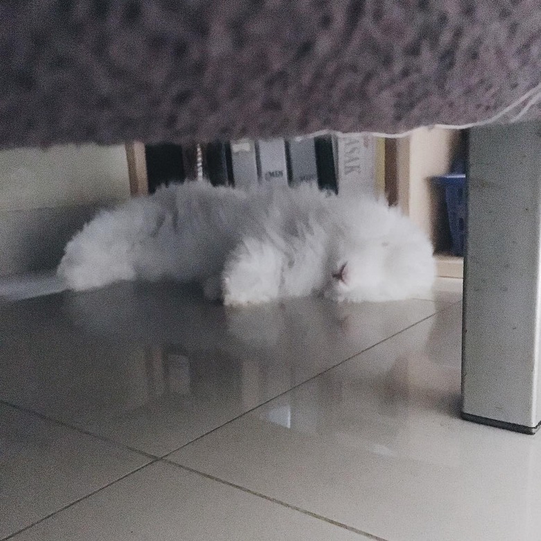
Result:
<svg viewBox="0 0 541 541"><path fill-rule="evenodd" d="M375 198L188 182L98 214L58 273L76 290L172 277L225 304L321 293L360 302L426 293L434 262L420 229Z"/></svg>

